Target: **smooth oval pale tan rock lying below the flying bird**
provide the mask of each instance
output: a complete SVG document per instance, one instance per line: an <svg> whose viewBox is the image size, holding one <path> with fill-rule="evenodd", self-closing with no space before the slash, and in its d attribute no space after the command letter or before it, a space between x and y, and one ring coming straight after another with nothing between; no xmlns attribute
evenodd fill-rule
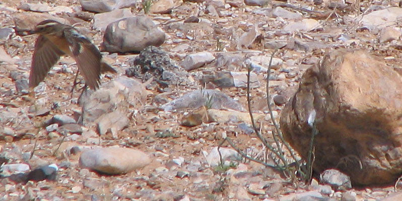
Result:
<svg viewBox="0 0 402 201"><path fill-rule="evenodd" d="M124 174L148 165L151 158L140 150L108 147L84 151L79 162L82 168L106 174Z"/></svg>

